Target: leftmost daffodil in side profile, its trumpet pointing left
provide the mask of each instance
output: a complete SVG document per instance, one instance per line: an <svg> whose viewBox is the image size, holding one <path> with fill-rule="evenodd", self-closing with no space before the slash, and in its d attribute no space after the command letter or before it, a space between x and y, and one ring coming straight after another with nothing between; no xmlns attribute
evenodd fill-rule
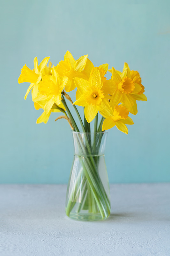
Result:
<svg viewBox="0 0 170 256"><path fill-rule="evenodd" d="M27 98L28 93L31 91L31 89L34 86L36 86L37 84L39 84L39 82L41 81L42 72L43 72L44 68L46 67L49 58L50 57L44 58L41 61L40 65L38 65L37 57L35 57L34 58L34 69L33 70L28 68L26 66L26 64L21 69L21 75L18 78L18 84L21 84L21 83L24 83L24 82L31 83L30 86L28 87L27 91L26 91L26 95L24 97L25 100Z"/></svg>

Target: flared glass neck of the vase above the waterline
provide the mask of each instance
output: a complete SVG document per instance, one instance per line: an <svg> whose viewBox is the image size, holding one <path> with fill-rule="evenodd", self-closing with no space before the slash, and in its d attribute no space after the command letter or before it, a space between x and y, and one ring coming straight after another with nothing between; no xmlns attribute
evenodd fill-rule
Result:
<svg viewBox="0 0 170 256"><path fill-rule="evenodd" d="M72 134L75 155L104 155L107 132L72 132Z"/></svg>

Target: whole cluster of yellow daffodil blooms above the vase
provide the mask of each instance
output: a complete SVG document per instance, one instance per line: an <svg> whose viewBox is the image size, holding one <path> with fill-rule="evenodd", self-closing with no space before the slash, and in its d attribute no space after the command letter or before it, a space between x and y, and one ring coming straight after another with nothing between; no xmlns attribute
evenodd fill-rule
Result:
<svg viewBox="0 0 170 256"><path fill-rule="evenodd" d="M67 51L64 60L57 66L52 67L51 62L47 66L49 57L44 58L39 65L36 57L33 70L24 65L18 83L31 83L25 99L32 90L34 107L44 110L37 123L47 123L51 112L63 112L67 116L67 106L63 104L65 100L61 95L64 94L63 90L70 92L77 88L73 105L84 107L88 123L99 112L105 118L102 131L116 126L128 134L126 124L133 124L128 116L129 112L136 115L137 100L147 100L139 73L130 70L127 63L124 64L122 72L115 68L108 70L108 64L94 67L87 57L88 55L84 55L75 60ZM109 80L105 77L107 71L112 73ZM68 97L67 95L66 98Z"/></svg>

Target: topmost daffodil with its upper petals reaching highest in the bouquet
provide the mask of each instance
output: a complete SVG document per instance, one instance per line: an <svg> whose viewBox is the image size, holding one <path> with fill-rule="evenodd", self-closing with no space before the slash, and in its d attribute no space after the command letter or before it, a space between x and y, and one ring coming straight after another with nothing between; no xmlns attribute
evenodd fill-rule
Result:
<svg viewBox="0 0 170 256"><path fill-rule="evenodd" d="M64 55L64 60L61 60L58 65L55 67L55 70L58 72L59 76L67 76L68 81L65 85L65 91L70 92L75 89L76 85L74 83L75 77L80 77L86 79L85 74L82 73L85 68L87 61L87 56L84 55L78 60L74 60L73 56L69 51Z"/></svg>

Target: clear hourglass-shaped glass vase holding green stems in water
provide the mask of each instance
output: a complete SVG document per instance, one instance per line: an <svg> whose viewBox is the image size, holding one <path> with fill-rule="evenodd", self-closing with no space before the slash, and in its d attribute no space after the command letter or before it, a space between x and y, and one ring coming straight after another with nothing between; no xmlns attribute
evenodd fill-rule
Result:
<svg viewBox="0 0 170 256"><path fill-rule="evenodd" d="M72 132L74 160L66 195L66 214L75 220L104 220L110 214L105 164L107 132Z"/></svg>

